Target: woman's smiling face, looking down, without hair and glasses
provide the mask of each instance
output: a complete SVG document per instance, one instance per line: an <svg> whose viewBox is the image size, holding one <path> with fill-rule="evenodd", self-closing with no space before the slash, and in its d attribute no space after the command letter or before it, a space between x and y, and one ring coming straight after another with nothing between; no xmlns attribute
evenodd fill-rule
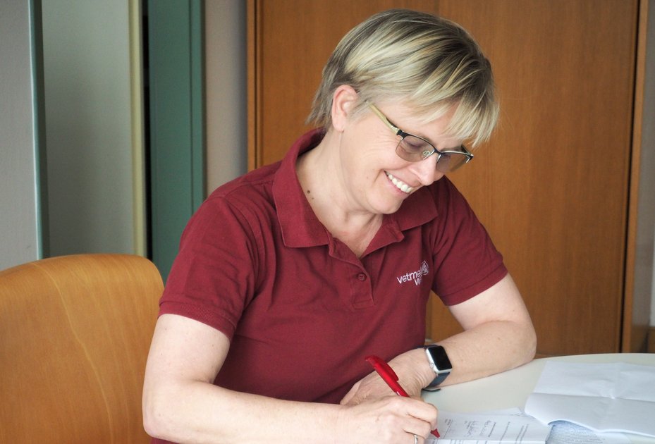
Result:
<svg viewBox="0 0 655 444"><path fill-rule="evenodd" d="M399 128L429 140L438 149L460 147L462 140L444 133L454 110L435 121L422 123L405 104L376 105ZM351 208L359 207L360 211L371 214L391 214L420 187L443 177L436 169L436 155L418 162L401 159L396 154L400 137L372 112L348 119L342 129L341 182Z"/></svg>

